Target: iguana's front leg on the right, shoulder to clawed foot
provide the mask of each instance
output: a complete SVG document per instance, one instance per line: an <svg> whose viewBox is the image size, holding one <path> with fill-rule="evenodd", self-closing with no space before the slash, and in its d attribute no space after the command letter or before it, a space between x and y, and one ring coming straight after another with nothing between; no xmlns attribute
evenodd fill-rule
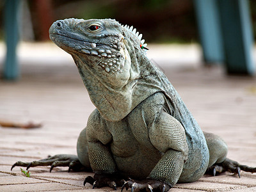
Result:
<svg viewBox="0 0 256 192"><path fill-rule="evenodd" d="M146 111L146 110L145 110ZM147 109L148 114L150 111ZM136 113L135 113L136 114ZM147 116L147 114L144 114ZM188 156L188 145L184 128L173 116L162 110L148 128L148 136L154 147L163 154L146 180L125 182L124 188L146 191L168 191L179 180ZM145 117L147 118L147 117Z"/></svg>

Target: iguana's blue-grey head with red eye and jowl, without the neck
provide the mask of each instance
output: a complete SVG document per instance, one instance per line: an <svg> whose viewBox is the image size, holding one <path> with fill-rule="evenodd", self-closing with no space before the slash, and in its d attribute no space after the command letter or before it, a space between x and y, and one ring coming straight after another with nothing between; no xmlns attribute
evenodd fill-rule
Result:
<svg viewBox="0 0 256 192"><path fill-rule="evenodd" d="M112 19L64 19L54 22L49 33L51 40L75 61L83 60L83 66L76 62L77 67L91 70L109 87L118 89L131 76L129 47L132 44L140 50L141 44L142 35L133 35L127 29Z"/></svg>

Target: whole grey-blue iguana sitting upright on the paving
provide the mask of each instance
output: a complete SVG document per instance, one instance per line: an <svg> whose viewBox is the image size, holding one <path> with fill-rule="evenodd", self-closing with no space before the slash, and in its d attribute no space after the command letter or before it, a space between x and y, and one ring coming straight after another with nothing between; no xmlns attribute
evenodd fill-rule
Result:
<svg viewBox="0 0 256 192"><path fill-rule="evenodd" d="M77 156L14 166L86 168L93 188L168 191L205 172L256 172L227 159L227 145L202 132L163 72L147 58L140 33L113 19L64 19L51 40L71 54L96 109L77 141ZM50 171L51 171L50 170Z"/></svg>

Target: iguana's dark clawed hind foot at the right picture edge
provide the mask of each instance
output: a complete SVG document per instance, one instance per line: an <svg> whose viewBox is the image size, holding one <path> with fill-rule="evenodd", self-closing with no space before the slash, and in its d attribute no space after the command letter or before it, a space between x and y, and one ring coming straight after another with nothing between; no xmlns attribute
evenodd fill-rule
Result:
<svg viewBox="0 0 256 192"><path fill-rule="evenodd" d="M214 164L208 168L207 173L212 173L213 176L223 172L236 173L238 177L241 177L241 170L244 172L256 173L256 167L250 167L247 165L239 164L231 159L225 159L222 163Z"/></svg>

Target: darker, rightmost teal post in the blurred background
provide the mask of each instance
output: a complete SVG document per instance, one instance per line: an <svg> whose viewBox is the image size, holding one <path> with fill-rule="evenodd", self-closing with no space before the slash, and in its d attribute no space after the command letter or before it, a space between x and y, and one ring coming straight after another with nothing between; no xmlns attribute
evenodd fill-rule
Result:
<svg viewBox="0 0 256 192"><path fill-rule="evenodd" d="M255 73L253 36L247 0L218 0L228 74Z"/></svg>

